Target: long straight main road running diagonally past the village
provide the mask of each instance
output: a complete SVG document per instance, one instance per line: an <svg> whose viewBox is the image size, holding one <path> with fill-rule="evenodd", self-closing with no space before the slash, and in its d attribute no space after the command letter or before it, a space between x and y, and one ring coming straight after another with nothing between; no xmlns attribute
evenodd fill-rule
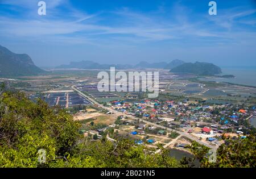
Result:
<svg viewBox="0 0 256 179"><path fill-rule="evenodd" d="M85 98L88 99L90 102L92 102L92 103L98 105L98 106L101 107L102 109L106 109L106 110L112 111L111 108L101 105L100 103L98 103L98 102L95 101L94 99L90 98L88 95L85 95L85 94L82 93L80 90L76 89L75 86L76 86L76 85L73 85L71 88L72 88L73 90L77 91L77 93L79 93L80 95L82 95L82 97L85 97ZM123 115L123 116L127 116L128 118L137 120L137 118L135 118L135 117L132 116L132 115L123 114L123 113L118 112L118 111L114 111L113 113L119 114L119 115ZM155 124L155 123L152 123L152 122L148 122L147 120L144 120L144 119L139 119L139 120L140 120L141 122L143 122L143 123L150 124L151 126L163 128L164 130L167 130L167 131L176 131L176 130L174 130L174 129L172 129L172 128L168 128L168 127L160 126L159 124ZM196 137L187 134L186 132L180 132L180 131L176 131L176 132L179 133L180 135L183 135L183 136L185 136L185 137L191 139L191 140L195 140L197 143L203 144L203 145L205 145L205 146L207 146L207 147L209 147L209 148L212 148L212 149L217 149L217 148L218 148L218 146L213 146L213 145L210 145L210 144L208 144L208 143L205 143L204 141L199 140L199 139L197 139Z"/></svg>

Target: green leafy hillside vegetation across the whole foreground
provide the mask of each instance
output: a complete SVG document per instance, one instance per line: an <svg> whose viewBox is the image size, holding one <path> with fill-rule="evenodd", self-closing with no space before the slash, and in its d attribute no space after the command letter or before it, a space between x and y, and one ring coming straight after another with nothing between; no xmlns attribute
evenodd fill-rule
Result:
<svg viewBox="0 0 256 179"><path fill-rule="evenodd" d="M190 167L192 159L176 161L166 149L155 154L129 139L92 140L79 134L81 124L67 111L49 108L41 99L31 102L23 93L6 91L0 97L1 167ZM107 135L107 134L106 134ZM95 138L97 139L97 138ZM202 167L254 167L255 134L228 139L209 163L208 148L193 143L191 151ZM161 148L159 146L159 148ZM46 162L40 163L40 149Z"/></svg>

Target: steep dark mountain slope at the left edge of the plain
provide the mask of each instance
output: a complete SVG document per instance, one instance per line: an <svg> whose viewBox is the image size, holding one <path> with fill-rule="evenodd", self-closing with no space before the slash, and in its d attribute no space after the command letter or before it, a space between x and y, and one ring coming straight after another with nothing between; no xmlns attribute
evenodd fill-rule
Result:
<svg viewBox="0 0 256 179"><path fill-rule="evenodd" d="M27 54L16 54L0 45L0 77L30 76L45 73Z"/></svg>

